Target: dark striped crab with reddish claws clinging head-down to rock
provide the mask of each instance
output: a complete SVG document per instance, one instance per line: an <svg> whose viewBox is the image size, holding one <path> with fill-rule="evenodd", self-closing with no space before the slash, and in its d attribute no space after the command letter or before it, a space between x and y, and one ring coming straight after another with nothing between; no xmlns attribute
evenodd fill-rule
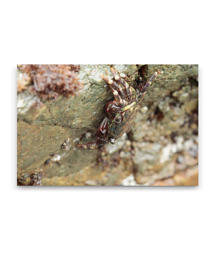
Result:
<svg viewBox="0 0 215 256"><path fill-rule="evenodd" d="M114 100L105 106L106 117L97 129L97 140L87 144L76 144L79 148L96 149L110 142L115 144L117 138L128 131L138 113L139 104L146 95L153 79L162 72L153 73L147 83L140 77L138 89L135 90L115 69L111 68L114 80L100 75L110 86Z"/></svg>

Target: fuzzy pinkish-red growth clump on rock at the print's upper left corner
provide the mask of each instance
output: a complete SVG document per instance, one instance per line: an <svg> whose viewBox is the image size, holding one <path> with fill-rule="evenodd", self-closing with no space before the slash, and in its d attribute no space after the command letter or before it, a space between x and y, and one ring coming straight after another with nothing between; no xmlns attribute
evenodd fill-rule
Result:
<svg viewBox="0 0 215 256"><path fill-rule="evenodd" d="M18 68L31 78L33 91L44 99L78 95L83 88L76 74L79 65L18 65Z"/></svg>

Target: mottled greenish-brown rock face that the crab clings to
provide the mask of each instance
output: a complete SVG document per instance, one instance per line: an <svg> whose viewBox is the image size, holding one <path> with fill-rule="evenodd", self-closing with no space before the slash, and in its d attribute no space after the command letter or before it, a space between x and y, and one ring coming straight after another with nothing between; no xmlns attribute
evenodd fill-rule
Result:
<svg viewBox="0 0 215 256"><path fill-rule="evenodd" d="M80 137L93 141L105 104L113 100L100 77L113 78L110 67L80 65L84 89L77 96L43 100L31 84L17 94L17 172L23 185L35 172L42 173L42 185L129 185L130 175L132 185L170 178L177 183L176 175L197 166L198 65L145 65L146 79L154 71L163 74L148 89L129 134L108 144L106 152L75 146ZM140 67L113 65L134 87Z"/></svg>

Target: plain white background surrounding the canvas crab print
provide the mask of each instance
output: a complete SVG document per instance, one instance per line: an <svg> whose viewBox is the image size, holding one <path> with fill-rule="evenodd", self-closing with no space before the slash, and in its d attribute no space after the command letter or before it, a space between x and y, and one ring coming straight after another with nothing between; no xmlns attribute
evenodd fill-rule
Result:
<svg viewBox="0 0 215 256"><path fill-rule="evenodd" d="M214 255L212 1L1 3L1 255ZM16 187L16 64L199 64L198 187Z"/></svg>

